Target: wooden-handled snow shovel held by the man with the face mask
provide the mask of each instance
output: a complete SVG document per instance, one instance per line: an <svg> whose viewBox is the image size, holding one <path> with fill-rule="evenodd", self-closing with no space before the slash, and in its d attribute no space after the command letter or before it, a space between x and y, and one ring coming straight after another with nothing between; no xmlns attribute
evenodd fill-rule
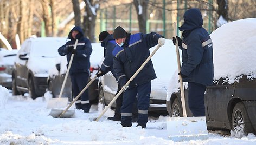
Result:
<svg viewBox="0 0 256 145"><path fill-rule="evenodd" d="M156 53L156 51L161 47L161 45L157 45L156 49L150 54L150 56L144 61L144 63L139 67L139 69L135 72L135 74L132 75L132 77L130 78L130 80L127 81L127 83L124 85L125 88L128 87L128 85L130 84L130 82L139 74L139 72L144 68L144 66L146 65L146 63L149 62L149 60L151 59L151 57ZM107 107L104 108L103 112L99 115L98 118L89 118L90 121L99 121L101 116L103 116L103 114L107 111L108 108L111 107L111 105L114 103L114 101L117 100L117 98L121 95L121 93L123 93L123 91L125 90L124 87L121 88L121 90L118 92L118 94L112 99L112 101L108 104Z"/></svg>

